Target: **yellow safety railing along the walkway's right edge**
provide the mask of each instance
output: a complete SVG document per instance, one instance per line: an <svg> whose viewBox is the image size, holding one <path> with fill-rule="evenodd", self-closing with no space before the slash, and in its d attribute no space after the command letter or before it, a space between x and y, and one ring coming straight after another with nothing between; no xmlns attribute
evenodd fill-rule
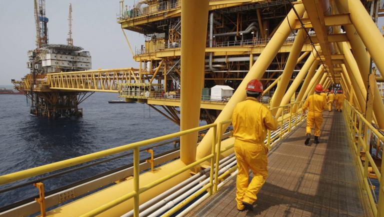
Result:
<svg viewBox="0 0 384 217"><path fill-rule="evenodd" d="M353 107L350 102L344 101L344 118L345 123L347 124L348 137L351 141L353 150L354 150L354 160L357 161L357 165L362 176L363 181L363 190L368 195L368 200L370 207L374 216L383 216L384 215L384 160L381 160L381 171L378 169L375 164L371 153L370 146L372 145L371 141L375 141L376 151L382 150L382 144L384 142L384 135L377 130L370 122L368 122L364 115L361 114L355 107ZM379 147L379 148L378 148ZM362 160L360 157L360 152L365 152L365 159ZM382 151L381 151L382 159ZM378 198L372 190L375 188L374 185L370 183L369 179L369 167L371 167L371 172L373 172L379 182L379 193Z"/></svg>

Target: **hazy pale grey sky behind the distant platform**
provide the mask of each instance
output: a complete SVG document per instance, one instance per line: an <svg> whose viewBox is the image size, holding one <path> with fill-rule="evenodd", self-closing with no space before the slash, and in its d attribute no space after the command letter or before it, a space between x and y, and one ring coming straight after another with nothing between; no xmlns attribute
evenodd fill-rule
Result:
<svg viewBox="0 0 384 217"><path fill-rule="evenodd" d="M69 3L73 44L90 51L92 69L138 67L116 21L119 0L46 0L49 43L66 44ZM26 53L35 48L36 35L33 0L0 0L0 29L0 85L7 85L29 72ZM125 33L132 49L144 43L142 34Z"/></svg>

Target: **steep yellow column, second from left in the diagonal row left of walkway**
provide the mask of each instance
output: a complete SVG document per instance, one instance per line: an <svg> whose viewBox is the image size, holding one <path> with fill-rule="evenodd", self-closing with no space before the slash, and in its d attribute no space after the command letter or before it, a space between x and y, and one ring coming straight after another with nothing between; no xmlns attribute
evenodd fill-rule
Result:
<svg viewBox="0 0 384 217"><path fill-rule="evenodd" d="M303 17L307 17L306 12L304 13ZM273 96L270 102L270 107L277 107L280 105L281 99L284 96L284 92L288 86L289 79L292 76L294 66L296 65L297 58L300 55L301 48L305 42L306 37L307 37L306 32L303 29L299 29L297 31L296 37L294 38L294 41L293 41L291 51L289 52L288 58L286 60L284 70L281 73L281 79L277 83L276 90L273 93ZM308 59L309 58L310 57L308 57ZM272 111L272 113L275 113L275 112L276 110Z"/></svg>

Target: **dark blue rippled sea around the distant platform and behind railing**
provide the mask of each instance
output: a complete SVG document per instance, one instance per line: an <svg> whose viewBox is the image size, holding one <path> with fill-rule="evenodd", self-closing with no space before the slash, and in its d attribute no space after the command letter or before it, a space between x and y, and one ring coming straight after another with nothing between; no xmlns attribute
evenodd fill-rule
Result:
<svg viewBox="0 0 384 217"><path fill-rule="evenodd" d="M46 117L29 115L30 105L24 95L0 94L0 175L176 132L179 129L176 124L146 104L107 103L111 99L118 99L117 94L96 92L79 105L83 108L83 117L49 120ZM173 144L157 147L154 154L172 148ZM142 152L140 159L147 156L147 153ZM127 156L44 180L45 191L130 162L132 156ZM0 189L3 187L5 186ZM0 207L37 193L37 188L32 185L0 193Z"/></svg>

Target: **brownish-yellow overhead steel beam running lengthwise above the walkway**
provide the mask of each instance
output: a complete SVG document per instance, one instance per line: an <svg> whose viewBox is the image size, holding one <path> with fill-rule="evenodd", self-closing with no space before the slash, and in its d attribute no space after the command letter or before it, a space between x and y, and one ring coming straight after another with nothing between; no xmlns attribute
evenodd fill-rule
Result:
<svg viewBox="0 0 384 217"><path fill-rule="evenodd" d="M325 58L324 63L326 63L330 73L333 75L333 64L328 41L328 30L325 27L324 11L321 2L319 0L303 0L302 2L306 12L308 13L309 20L313 25L313 29L316 32L318 43L320 44L322 54Z"/></svg>

